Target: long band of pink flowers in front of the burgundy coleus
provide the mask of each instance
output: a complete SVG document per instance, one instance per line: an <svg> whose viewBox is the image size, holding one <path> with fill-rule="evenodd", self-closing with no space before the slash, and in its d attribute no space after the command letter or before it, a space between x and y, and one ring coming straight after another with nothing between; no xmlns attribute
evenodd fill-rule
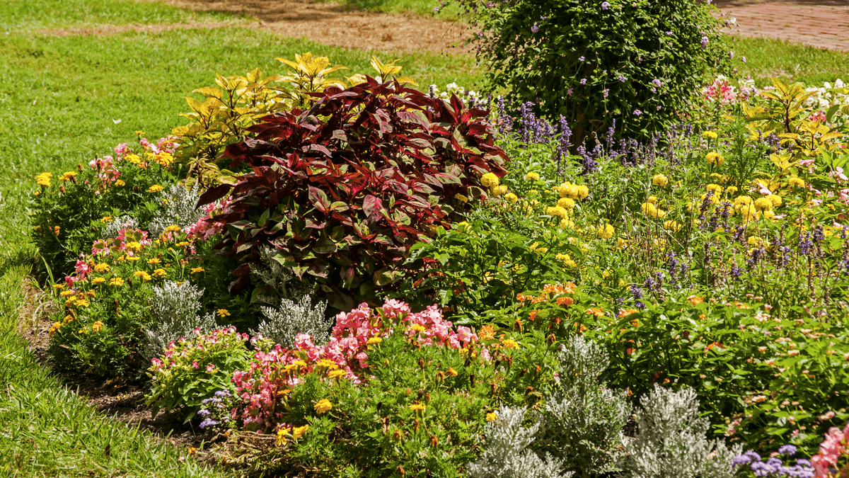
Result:
<svg viewBox="0 0 849 478"><path fill-rule="evenodd" d="M284 390L301 383L300 376L305 373L314 370L323 373L334 367L344 371L352 382L362 383L367 379L365 371L369 367L368 345L390 336L396 327L418 345L460 349L478 340L469 327L458 327L455 331L436 305L411 314L408 304L395 299L386 300L375 310L368 304L360 304L357 309L336 316L327 344L318 346L312 343L312 337L300 334L295 338L294 349L284 349L278 344L269 352L257 350L250 370L233 373L236 391L246 404L242 415L245 427L273 430L280 418L276 412L279 398ZM481 357L486 359L485 352L481 351Z"/></svg>

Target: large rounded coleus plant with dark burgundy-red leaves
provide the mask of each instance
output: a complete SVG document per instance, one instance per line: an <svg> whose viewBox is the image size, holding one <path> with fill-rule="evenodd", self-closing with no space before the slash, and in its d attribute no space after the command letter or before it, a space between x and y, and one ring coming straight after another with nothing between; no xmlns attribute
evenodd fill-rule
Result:
<svg viewBox="0 0 849 478"><path fill-rule="evenodd" d="M313 96L309 110L265 117L253 139L228 145L231 168L251 172L199 204L231 195L229 212L210 219L226 226L218 247L241 263L231 288L247 285L267 245L331 306L352 308L401 277L415 242L485 198L481 175L506 174L507 156L487 111L457 97L372 77Z"/></svg>

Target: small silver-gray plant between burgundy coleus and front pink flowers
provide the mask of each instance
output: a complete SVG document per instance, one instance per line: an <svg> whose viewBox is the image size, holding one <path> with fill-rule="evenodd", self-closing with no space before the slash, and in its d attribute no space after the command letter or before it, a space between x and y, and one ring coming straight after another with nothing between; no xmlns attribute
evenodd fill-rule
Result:
<svg viewBox="0 0 849 478"><path fill-rule="evenodd" d="M301 296L297 303L290 299L280 299L278 307L260 307L266 320L262 321L251 335L261 335L265 339L272 339L276 344L291 347L295 344L295 336L299 333L312 335L312 343L321 345L329 339L330 326L333 325L332 318L324 317L327 302L318 301L312 304L309 295Z"/></svg>

